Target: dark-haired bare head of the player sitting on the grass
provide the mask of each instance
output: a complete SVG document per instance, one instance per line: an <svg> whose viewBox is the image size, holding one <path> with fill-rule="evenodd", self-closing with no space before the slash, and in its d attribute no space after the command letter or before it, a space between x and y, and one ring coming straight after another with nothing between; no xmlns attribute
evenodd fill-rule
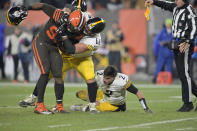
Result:
<svg viewBox="0 0 197 131"><path fill-rule="evenodd" d="M104 70L104 76L116 77L118 71L115 66L109 65Z"/></svg>

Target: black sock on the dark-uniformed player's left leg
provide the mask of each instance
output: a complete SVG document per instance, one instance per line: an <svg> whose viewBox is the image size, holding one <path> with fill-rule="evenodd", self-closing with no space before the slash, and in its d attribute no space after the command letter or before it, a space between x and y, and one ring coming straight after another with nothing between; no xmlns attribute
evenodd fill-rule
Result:
<svg viewBox="0 0 197 131"><path fill-rule="evenodd" d="M48 77L49 77L48 74L40 75L40 78L36 84L38 103L44 102L44 93L45 93L46 85L48 83Z"/></svg>

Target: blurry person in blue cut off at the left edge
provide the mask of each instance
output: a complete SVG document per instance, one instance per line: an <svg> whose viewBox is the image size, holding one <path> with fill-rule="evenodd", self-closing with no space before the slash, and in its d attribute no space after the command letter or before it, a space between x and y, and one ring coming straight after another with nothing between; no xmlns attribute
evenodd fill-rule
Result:
<svg viewBox="0 0 197 131"><path fill-rule="evenodd" d="M5 29L5 25L0 24L0 69L1 69L1 74L2 74L1 77L3 79L6 78L5 70L4 70L4 59L3 59L3 55L4 55L4 52L5 52L4 29Z"/></svg>

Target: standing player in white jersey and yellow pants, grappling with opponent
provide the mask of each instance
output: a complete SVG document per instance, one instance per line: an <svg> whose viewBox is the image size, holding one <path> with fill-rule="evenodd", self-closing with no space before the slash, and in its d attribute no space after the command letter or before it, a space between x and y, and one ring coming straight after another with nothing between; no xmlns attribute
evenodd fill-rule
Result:
<svg viewBox="0 0 197 131"><path fill-rule="evenodd" d="M75 0L72 6L75 6L77 0ZM78 4L77 4L78 5ZM77 7L77 6L76 6ZM82 11L87 11L87 6L85 2L81 5ZM86 19L88 20L85 28L81 32L75 32L71 35L67 35L70 40L72 40L74 46L72 48L65 47L64 49L69 49L67 51L63 50L63 79L65 78L66 72L74 68L76 69L82 78L86 81L88 86L89 99L90 99L90 112L97 112L95 108L97 84L94 80L94 64L92 61L93 51L101 46L101 38L99 32L101 32L105 27L105 22L99 17L92 18L88 13L84 13ZM65 44L67 46L67 44ZM71 49L73 51L71 52ZM68 53L69 52L69 53ZM32 95L28 98L19 102L19 105L26 107L29 105L34 105L35 98L37 96L37 87L35 88Z"/></svg>

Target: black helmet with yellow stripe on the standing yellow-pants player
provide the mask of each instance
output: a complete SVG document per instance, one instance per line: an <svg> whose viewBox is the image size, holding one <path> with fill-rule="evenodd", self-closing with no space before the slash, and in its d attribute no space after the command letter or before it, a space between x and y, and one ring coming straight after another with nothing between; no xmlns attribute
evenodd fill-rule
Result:
<svg viewBox="0 0 197 131"><path fill-rule="evenodd" d="M100 17L90 18L84 28L84 34L95 35L105 28L105 21Z"/></svg>

